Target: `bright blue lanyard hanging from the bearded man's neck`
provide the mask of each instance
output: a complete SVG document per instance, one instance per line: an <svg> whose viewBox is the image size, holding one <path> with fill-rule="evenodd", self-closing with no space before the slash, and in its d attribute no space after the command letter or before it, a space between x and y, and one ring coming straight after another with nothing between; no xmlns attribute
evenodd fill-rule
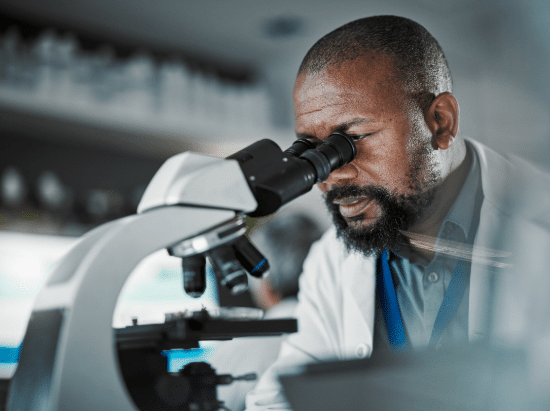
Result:
<svg viewBox="0 0 550 411"><path fill-rule="evenodd" d="M447 325L451 322L464 297L468 285L467 267L463 260L459 260L449 287L443 297L441 307L435 319L430 346L435 346ZM393 278L389 264L389 254L386 249L378 256L376 263L376 283L378 298L384 315L384 322L388 330L388 337L392 349L396 351L408 350L407 337L403 327L403 319L397 303L397 295L393 285Z"/></svg>

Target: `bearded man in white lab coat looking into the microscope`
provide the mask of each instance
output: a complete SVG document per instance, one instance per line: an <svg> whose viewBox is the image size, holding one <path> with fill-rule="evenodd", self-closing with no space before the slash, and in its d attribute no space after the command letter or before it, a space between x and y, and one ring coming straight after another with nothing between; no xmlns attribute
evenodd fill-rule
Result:
<svg viewBox="0 0 550 411"><path fill-rule="evenodd" d="M288 364L482 338L484 274L499 266L482 252L505 255L487 249L508 218L511 165L458 134L449 67L424 27L376 16L329 33L300 66L294 104L298 136L347 134L358 154L319 184L335 227L304 264L299 331L249 410L285 406Z"/></svg>

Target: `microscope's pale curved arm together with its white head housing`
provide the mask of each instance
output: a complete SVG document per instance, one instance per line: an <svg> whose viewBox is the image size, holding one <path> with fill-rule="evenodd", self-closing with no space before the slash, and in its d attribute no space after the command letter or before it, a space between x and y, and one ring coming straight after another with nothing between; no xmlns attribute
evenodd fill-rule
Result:
<svg viewBox="0 0 550 411"><path fill-rule="evenodd" d="M136 411L112 329L125 281L148 255L256 206L236 161L195 153L169 159L139 214L90 231L53 270L33 307L7 409Z"/></svg>

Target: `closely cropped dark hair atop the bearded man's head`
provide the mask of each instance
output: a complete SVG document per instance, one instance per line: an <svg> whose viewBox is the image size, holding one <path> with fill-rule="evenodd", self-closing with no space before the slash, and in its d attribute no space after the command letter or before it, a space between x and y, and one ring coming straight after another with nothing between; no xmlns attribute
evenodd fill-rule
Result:
<svg viewBox="0 0 550 411"><path fill-rule="evenodd" d="M391 57L411 93L452 92L451 72L437 40L420 24L397 16L367 17L332 31L308 51L299 74L318 74L369 53Z"/></svg>

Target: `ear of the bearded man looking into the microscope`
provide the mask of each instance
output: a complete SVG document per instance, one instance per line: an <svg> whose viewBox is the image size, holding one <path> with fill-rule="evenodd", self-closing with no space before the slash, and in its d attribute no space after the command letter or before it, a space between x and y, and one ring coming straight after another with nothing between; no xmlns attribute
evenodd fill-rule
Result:
<svg viewBox="0 0 550 411"><path fill-rule="evenodd" d="M432 132L434 149L446 150L458 133L458 102L449 92L438 95L426 113L426 124Z"/></svg>

